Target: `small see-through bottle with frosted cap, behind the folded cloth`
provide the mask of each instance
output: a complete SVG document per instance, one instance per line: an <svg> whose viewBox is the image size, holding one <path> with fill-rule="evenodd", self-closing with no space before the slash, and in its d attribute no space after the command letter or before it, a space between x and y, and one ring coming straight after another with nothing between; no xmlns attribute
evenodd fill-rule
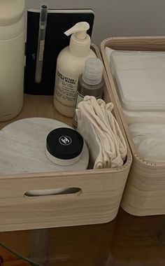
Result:
<svg viewBox="0 0 165 266"><path fill-rule="evenodd" d="M73 116L73 127L78 126L76 108L86 95L94 96L96 99L103 97L103 63L99 58L88 58L85 61L85 69L78 79L78 90L76 92L76 106Z"/></svg>

